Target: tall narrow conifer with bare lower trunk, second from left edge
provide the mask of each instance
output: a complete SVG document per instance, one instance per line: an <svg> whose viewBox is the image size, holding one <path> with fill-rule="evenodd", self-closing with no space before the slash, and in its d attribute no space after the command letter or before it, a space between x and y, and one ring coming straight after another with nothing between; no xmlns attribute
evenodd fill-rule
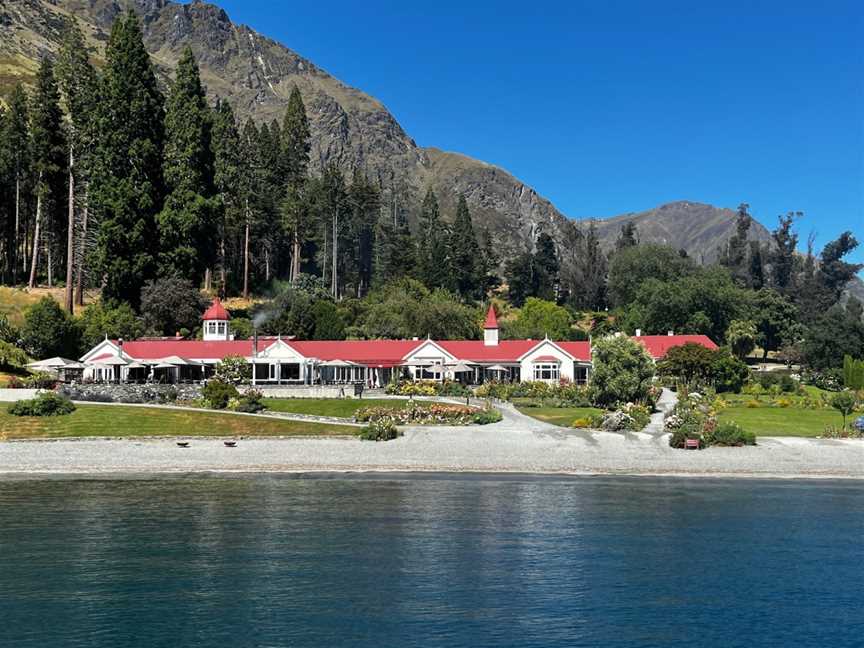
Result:
<svg viewBox="0 0 864 648"><path fill-rule="evenodd" d="M39 249L42 239L48 256L48 284L53 280L54 211L62 205L63 166L66 141L60 90L54 76L54 65L44 58L36 75L36 91L31 113L33 137L33 171L36 176L36 221L33 226L33 253L30 256L29 286L36 286L39 271Z"/></svg>

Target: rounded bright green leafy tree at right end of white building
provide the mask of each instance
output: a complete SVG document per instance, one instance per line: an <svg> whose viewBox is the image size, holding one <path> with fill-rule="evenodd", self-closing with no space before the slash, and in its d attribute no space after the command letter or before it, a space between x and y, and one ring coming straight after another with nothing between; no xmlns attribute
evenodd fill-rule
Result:
<svg viewBox="0 0 864 648"><path fill-rule="evenodd" d="M594 340L589 380L594 402L603 407L645 400L654 377L654 362L641 344L615 335Z"/></svg>

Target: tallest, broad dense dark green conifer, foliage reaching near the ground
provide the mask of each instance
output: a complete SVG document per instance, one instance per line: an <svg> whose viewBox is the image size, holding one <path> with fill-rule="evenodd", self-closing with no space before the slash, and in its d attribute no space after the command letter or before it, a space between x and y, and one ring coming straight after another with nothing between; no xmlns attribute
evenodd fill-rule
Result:
<svg viewBox="0 0 864 648"><path fill-rule="evenodd" d="M156 274L164 130L162 95L134 13L114 22L105 58L90 192L101 220L94 265L103 299L137 306Z"/></svg>

